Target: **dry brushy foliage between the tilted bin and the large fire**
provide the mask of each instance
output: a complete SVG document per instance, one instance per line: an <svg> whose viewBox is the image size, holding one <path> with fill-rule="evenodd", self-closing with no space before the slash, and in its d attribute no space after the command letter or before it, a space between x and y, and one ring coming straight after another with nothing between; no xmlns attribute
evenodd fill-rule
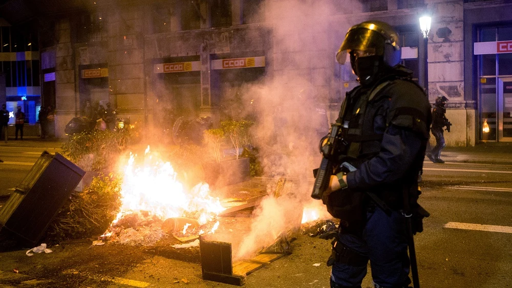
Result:
<svg viewBox="0 0 512 288"><path fill-rule="evenodd" d="M50 223L46 240L60 242L105 232L121 208L121 183L117 175L102 175L82 192L73 191Z"/></svg>

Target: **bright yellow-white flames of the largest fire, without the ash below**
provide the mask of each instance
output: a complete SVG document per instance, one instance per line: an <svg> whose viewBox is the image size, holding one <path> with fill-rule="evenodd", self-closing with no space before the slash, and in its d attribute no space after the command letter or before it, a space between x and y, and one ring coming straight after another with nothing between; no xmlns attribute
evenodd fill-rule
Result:
<svg viewBox="0 0 512 288"><path fill-rule="evenodd" d="M145 150L143 161L136 161L136 158L137 154L130 153L130 159L123 169L122 206L112 226L123 217L134 213L153 215L161 220L173 217L193 219L196 225L186 223L178 229L184 235L193 233L190 231L193 227L199 228L197 224L205 229L202 225L215 221L219 212L225 209L219 198L209 195L206 183L199 183L190 191L186 191L177 180L178 174L173 166L154 157L150 153L150 146ZM207 231L213 233L218 226L217 221L211 230ZM199 229L194 230L197 230L195 234L202 234ZM105 233L103 236L110 235Z"/></svg>

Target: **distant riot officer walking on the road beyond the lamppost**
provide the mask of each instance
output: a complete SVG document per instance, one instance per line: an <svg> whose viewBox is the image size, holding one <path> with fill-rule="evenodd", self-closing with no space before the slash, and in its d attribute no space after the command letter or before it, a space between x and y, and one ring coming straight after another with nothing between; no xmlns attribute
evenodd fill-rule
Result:
<svg viewBox="0 0 512 288"><path fill-rule="evenodd" d="M452 123L446 118L446 108L444 105L448 101L448 98L444 96L438 96L434 107L432 108L432 135L436 138L436 146L432 148L432 151L426 153L428 157L434 163L444 163L441 159L441 150L446 146L444 143L444 127L450 132L450 126Z"/></svg>

